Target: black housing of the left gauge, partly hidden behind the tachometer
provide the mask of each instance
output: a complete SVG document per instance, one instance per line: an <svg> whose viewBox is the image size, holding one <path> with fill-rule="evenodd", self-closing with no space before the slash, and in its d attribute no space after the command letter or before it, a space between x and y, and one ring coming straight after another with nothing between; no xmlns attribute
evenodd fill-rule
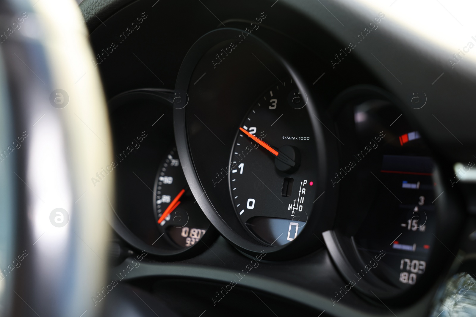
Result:
<svg viewBox="0 0 476 317"><path fill-rule="evenodd" d="M116 202L114 205L111 202L114 213L109 223L133 248L159 258L183 259L207 249L206 244L213 243L217 233L197 204L193 204L195 199L191 193L187 192L181 197L181 206L170 214L167 221L163 221L166 225L162 227L158 223L161 215L158 211L165 211L171 202L170 197L181 188L188 190L177 154L172 151L175 147L172 98L169 90L140 89L120 94L109 101L115 154L112 166L115 166L117 183ZM173 163L170 157L173 157ZM162 172L164 169L167 175ZM173 173L169 171L171 169L174 169ZM168 177L167 184L159 181L163 176ZM172 184L171 176L175 177L178 187ZM168 190L168 186L173 189ZM159 210L157 201L161 202ZM199 221L194 221L198 218ZM196 228L192 228L195 229L192 238L188 237L191 233L188 230L186 244L187 238L181 237L180 231L188 223L199 223L203 230L198 235Z"/></svg>

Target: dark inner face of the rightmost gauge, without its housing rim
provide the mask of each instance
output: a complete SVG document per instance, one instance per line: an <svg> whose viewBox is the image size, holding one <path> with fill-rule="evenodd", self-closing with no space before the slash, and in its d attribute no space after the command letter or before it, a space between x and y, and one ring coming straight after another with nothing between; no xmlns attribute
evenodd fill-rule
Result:
<svg viewBox="0 0 476 317"><path fill-rule="evenodd" d="M406 289L421 279L435 247L435 163L419 132L392 104L369 100L353 110L356 133L346 144L354 142L359 149L377 134L383 140L370 143L368 154L364 147L365 157L362 152L352 153L361 164L351 176L361 187L356 189L354 185L352 190L360 198L352 192L346 197L366 206L360 207L366 216L352 234L358 254L354 266L358 268L380 255L372 273L384 285Z"/></svg>

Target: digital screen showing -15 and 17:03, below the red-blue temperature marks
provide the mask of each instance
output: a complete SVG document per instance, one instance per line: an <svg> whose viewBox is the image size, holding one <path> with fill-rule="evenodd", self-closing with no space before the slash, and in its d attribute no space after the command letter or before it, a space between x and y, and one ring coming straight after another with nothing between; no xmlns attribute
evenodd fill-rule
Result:
<svg viewBox="0 0 476 317"><path fill-rule="evenodd" d="M433 165L426 156L384 155L378 179L387 188L377 192L355 237L357 250L364 258L385 251L375 273L402 288L414 285L425 273L433 247Z"/></svg>

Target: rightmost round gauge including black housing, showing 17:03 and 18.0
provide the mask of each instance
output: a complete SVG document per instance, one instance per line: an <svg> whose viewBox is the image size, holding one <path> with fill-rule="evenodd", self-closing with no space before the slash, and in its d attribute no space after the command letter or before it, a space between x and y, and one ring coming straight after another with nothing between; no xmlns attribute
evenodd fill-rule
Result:
<svg viewBox="0 0 476 317"><path fill-rule="evenodd" d="M346 147L339 146L343 168L331 182L346 199L339 200L334 230L323 233L348 288L387 305L411 303L436 281L451 263L441 254L462 221L456 207L448 212L456 204L441 162L398 105L374 86L349 88L333 103Z"/></svg>

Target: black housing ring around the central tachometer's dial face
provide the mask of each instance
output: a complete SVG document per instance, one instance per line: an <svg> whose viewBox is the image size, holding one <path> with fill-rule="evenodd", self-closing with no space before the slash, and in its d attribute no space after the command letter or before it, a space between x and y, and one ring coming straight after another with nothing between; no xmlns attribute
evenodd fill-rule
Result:
<svg viewBox="0 0 476 317"><path fill-rule="evenodd" d="M271 48L253 34L242 39L243 32L240 29L217 29L204 35L190 48L180 67L175 89L177 149L192 192L199 198L198 202L210 222L228 241L250 255L265 250L268 259L295 258L321 247L320 233L329 229L334 220L337 193L326 192L328 184L325 180L327 171L333 170L337 162L338 141L328 130L332 129L332 124L326 113L319 111L325 98L315 95L315 91L307 86L309 78L300 77L296 69L303 65L287 62L301 60L297 54L310 58L312 53L306 48L296 49L298 44L287 38L272 39ZM230 53L227 48L235 42L239 44ZM321 69L326 69L326 66L317 62L317 73L322 74ZM292 78L298 89L307 95L306 111L312 125L313 145L317 148L314 168L318 177L314 188L318 194L313 199L315 203L306 226L297 238L282 246L270 246L253 238L241 225L230 199L227 179L218 180L221 179L219 175L227 177L226 167L241 120L277 78Z"/></svg>

